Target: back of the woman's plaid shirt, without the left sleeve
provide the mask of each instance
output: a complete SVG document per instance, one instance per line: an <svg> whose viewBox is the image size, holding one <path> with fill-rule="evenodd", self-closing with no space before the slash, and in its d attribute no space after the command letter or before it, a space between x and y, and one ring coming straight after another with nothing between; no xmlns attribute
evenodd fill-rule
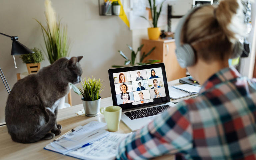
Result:
<svg viewBox="0 0 256 160"><path fill-rule="evenodd" d="M190 158L256 158L256 79L225 68L184 103L193 136Z"/></svg>

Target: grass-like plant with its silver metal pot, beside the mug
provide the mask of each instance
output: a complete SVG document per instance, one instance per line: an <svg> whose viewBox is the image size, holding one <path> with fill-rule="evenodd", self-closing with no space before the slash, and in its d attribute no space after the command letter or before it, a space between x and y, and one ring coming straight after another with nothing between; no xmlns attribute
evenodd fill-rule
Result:
<svg viewBox="0 0 256 160"><path fill-rule="evenodd" d="M82 102L84 106L85 115L88 117L95 117L100 111L100 93L102 91L102 82L100 79L84 78L81 82L83 88L79 87L82 94Z"/></svg>

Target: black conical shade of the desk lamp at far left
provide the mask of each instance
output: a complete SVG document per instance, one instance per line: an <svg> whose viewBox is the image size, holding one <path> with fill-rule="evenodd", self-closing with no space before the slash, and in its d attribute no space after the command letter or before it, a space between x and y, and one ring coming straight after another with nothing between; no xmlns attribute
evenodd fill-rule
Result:
<svg viewBox="0 0 256 160"><path fill-rule="evenodd" d="M13 40L12 41L12 51L11 55L21 55L21 54L29 54L29 53L34 53L31 49L28 47L24 46L20 42Z"/></svg>

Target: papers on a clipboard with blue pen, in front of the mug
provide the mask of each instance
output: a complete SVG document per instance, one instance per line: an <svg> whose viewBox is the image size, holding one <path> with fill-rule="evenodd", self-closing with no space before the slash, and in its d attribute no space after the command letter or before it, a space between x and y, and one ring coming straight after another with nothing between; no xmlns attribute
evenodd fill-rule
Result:
<svg viewBox="0 0 256 160"><path fill-rule="evenodd" d="M101 129L105 125L92 121L85 126L78 126L72 133L51 142L44 149L80 159L115 159L119 142L128 134Z"/></svg>

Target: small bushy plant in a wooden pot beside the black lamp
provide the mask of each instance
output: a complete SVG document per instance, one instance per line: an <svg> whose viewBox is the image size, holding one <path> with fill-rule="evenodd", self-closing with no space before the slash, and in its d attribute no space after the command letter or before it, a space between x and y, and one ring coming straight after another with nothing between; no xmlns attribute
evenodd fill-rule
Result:
<svg viewBox="0 0 256 160"><path fill-rule="evenodd" d="M37 73L40 69L40 62L44 60L44 56L41 50L39 50L36 47L34 47L31 50L34 51L35 53L23 54L20 56L23 63L26 63L29 74Z"/></svg>

